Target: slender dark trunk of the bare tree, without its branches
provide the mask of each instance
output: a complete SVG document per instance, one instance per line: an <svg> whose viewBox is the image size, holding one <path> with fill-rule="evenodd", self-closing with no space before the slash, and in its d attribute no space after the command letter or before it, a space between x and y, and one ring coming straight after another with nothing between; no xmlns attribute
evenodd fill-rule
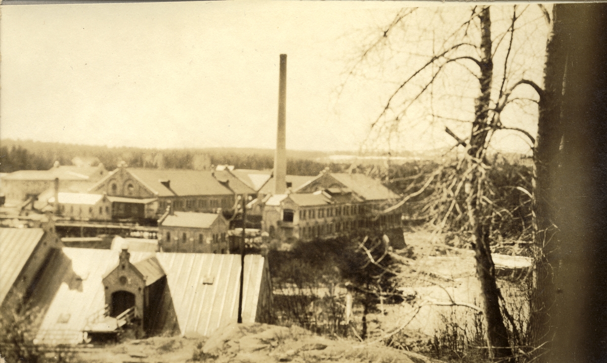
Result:
<svg viewBox="0 0 607 363"><path fill-rule="evenodd" d="M512 350L508 341L508 333L500 310L500 290L495 281L495 266L491 258L489 226L483 220L483 181L481 175L486 151L487 135L490 131L489 107L491 97L491 86L493 79L492 42L491 42L491 18L489 7L484 7L480 14L481 25L481 93L476 98L475 119L472 124L470 135L469 155L474 159L470 162L476 163L475 171L469 180L470 192L468 200L468 211L470 214L470 225L473 231L473 246L476 258L476 274L481 283L481 296L483 299L484 316L487 322L487 343L490 356L496 360L504 361L504 358L512 357ZM511 359L510 359L511 361Z"/></svg>

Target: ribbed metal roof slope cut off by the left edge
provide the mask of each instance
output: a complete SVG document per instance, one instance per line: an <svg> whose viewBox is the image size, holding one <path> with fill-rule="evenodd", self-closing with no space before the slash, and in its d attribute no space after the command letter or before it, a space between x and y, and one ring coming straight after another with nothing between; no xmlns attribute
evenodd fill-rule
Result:
<svg viewBox="0 0 607 363"><path fill-rule="evenodd" d="M42 236L42 228L0 228L0 304Z"/></svg>

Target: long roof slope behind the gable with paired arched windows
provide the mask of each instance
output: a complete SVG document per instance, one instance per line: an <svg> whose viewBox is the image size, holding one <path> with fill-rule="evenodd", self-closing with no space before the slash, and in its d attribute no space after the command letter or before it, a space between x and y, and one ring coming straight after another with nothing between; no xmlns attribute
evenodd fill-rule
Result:
<svg viewBox="0 0 607 363"><path fill-rule="evenodd" d="M217 181L211 171L140 168L126 170L160 197L234 194ZM161 183L163 181L170 181L170 189Z"/></svg>

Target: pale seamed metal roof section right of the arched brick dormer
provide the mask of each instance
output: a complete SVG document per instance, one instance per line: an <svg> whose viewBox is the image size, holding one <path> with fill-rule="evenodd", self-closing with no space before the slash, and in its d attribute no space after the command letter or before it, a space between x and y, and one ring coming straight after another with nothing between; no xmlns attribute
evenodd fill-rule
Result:
<svg viewBox="0 0 607 363"><path fill-rule="evenodd" d="M208 336L237 321L240 255L157 253L156 256L167 276L181 334ZM245 256L243 322L255 321L263 263L262 256ZM211 284L204 283L211 280Z"/></svg>

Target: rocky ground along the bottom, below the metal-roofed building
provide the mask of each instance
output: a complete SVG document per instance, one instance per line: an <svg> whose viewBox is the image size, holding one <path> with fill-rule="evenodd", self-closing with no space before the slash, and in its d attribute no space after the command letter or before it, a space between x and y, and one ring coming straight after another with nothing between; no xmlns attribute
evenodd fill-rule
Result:
<svg viewBox="0 0 607 363"><path fill-rule="evenodd" d="M90 363L438 362L381 344L328 339L299 327L267 324L231 324L209 338L156 337L89 348L78 353L75 360Z"/></svg>

